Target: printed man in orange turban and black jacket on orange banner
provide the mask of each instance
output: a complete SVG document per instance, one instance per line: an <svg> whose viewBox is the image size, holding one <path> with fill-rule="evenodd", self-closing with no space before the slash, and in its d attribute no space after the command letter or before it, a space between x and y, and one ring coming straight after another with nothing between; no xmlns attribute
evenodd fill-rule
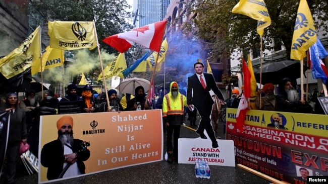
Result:
<svg viewBox="0 0 328 184"><path fill-rule="evenodd" d="M58 139L45 144L41 150L41 164L47 167L47 178L57 179L63 168L70 165L63 177L85 174L83 161L90 157L90 151L83 141L73 138L73 118L63 116L57 121Z"/></svg>

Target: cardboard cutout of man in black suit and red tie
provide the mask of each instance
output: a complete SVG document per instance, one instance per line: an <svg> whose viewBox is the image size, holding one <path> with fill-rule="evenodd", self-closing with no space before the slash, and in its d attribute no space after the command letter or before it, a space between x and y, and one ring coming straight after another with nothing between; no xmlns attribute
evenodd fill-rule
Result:
<svg viewBox="0 0 328 184"><path fill-rule="evenodd" d="M212 105L214 102L209 94L209 91L212 89L214 94L220 100L224 100L224 97L220 89L216 86L213 75L203 73L203 63L194 63L194 70L196 73L188 77L187 104L189 109L192 109L193 106L196 107L199 115L201 116L196 133L200 135L200 138L207 139L204 135L204 130L206 130L209 139L212 141L212 147L216 148L218 145L210 119Z"/></svg>

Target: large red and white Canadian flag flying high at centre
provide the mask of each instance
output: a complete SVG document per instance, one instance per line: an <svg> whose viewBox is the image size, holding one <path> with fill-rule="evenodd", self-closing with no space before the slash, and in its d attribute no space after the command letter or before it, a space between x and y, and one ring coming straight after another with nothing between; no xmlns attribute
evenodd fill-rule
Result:
<svg viewBox="0 0 328 184"><path fill-rule="evenodd" d="M102 41L124 53L134 43L159 52L167 20L152 23L132 31L109 36Z"/></svg>

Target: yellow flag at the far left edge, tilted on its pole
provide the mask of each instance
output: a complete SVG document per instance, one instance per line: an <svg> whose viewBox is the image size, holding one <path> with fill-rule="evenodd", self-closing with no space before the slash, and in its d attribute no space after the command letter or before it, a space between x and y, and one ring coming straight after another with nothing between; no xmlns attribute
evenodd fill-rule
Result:
<svg viewBox="0 0 328 184"><path fill-rule="evenodd" d="M40 26L23 43L7 56L0 59L0 72L11 78L31 67L41 55Z"/></svg>

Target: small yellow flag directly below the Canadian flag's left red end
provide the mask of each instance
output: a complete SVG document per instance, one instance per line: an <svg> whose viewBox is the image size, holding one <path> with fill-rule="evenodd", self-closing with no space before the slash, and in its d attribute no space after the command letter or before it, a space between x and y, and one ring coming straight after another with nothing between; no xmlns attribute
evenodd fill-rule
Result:
<svg viewBox="0 0 328 184"><path fill-rule="evenodd" d="M103 69L105 73L105 78L119 75L123 70L127 69L127 63L125 61L124 53L120 53L116 59L114 59L108 66ZM98 76L97 80L102 79L102 73Z"/></svg>

